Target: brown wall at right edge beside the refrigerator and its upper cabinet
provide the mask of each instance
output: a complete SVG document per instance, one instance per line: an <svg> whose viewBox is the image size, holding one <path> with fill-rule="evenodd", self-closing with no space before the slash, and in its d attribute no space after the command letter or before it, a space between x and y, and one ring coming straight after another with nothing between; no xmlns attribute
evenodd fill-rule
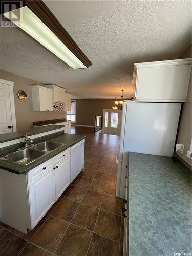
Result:
<svg viewBox="0 0 192 256"><path fill-rule="evenodd" d="M180 58L191 58L191 46L180 56ZM190 148L191 143L191 133L192 133L192 113L191 113L191 75L189 81L189 88L187 93L186 102L183 104L183 110L181 114L181 121L178 131L177 143L182 143L184 145L183 155L177 153L183 160L188 164L192 165L191 159L189 159L186 154Z"/></svg>

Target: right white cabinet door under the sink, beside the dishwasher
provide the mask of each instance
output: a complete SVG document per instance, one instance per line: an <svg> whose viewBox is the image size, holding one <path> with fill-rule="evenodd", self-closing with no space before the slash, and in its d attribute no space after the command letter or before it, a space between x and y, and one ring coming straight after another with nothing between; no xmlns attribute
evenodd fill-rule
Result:
<svg viewBox="0 0 192 256"><path fill-rule="evenodd" d="M70 156L54 166L56 200L70 184Z"/></svg>

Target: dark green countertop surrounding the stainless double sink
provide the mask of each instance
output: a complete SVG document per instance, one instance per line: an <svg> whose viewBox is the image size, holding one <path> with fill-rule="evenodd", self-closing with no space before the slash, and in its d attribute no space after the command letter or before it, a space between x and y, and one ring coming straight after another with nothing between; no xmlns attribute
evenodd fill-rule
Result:
<svg viewBox="0 0 192 256"><path fill-rule="evenodd" d="M53 126L53 125L52 125ZM54 126L58 126L58 125L54 125ZM62 126L61 126L62 127ZM38 129L38 128L35 128ZM46 138L45 138L46 137ZM67 148L71 147L72 145L76 144L77 142L81 141L84 138L83 135L74 135L74 134L68 134L68 133L62 133L59 132L56 134L56 136L54 136L53 134L48 136L44 136L41 138L37 138L34 139L34 144L39 143L41 141L53 141L53 142L59 142L59 143L64 143L65 145L57 148L56 150L45 154L44 156L36 159L34 162L28 164L28 165L22 165L22 164L18 164L18 163L12 163L12 162L8 162L8 161L4 161L2 159L0 159L0 168L1 169L5 169L8 170L9 172L15 173L15 174L24 174L29 172L29 170L35 168L36 166L38 166L39 164L49 160L50 158L56 156L57 154L59 154L60 152L67 150ZM19 148L21 145L17 144ZM11 148L13 148L12 152L15 151L15 146L9 146L9 147L5 147L2 150L0 150L0 157L5 156L6 154L8 154L8 152L11 152Z"/></svg>

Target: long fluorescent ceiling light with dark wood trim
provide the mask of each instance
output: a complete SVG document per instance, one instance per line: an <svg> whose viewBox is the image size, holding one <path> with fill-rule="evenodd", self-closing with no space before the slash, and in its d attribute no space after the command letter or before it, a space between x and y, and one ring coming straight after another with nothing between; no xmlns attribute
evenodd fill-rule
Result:
<svg viewBox="0 0 192 256"><path fill-rule="evenodd" d="M10 20L72 69L89 68L92 65L42 0L3 2L7 3L1 3L1 14L5 20Z"/></svg>

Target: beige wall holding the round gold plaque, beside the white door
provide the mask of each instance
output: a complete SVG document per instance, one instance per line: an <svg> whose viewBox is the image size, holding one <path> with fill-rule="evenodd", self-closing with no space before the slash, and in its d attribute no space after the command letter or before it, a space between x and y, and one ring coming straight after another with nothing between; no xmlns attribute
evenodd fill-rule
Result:
<svg viewBox="0 0 192 256"><path fill-rule="evenodd" d="M66 112L37 112L32 110L32 95L30 86L33 84L41 83L30 80L23 76L18 76L9 73L4 70L0 70L0 78L14 82L14 100L15 100L15 115L17 131L29 129L32 127L34 121L50 120L65 118ZM24 90L27 93L28 98L26 100L20 100L17 96L19 90Z"/></svg>

